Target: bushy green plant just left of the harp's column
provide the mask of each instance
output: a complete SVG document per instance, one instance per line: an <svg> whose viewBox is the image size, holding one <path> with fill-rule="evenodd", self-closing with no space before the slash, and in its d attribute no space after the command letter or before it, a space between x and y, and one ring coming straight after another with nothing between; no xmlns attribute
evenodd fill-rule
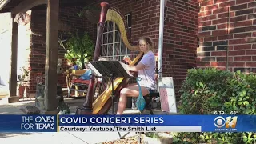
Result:
<svg viewBox="0 0 256 144"><path fill-rule="evenodd" d="M68 48L65 58L72 60L72 58L78 58L81 62L82 68L85 62L89 62L93 57L94 53L94 43L90 39L87 33L82 36L76 34L70 34L70 39L66 42Z"/></svg>

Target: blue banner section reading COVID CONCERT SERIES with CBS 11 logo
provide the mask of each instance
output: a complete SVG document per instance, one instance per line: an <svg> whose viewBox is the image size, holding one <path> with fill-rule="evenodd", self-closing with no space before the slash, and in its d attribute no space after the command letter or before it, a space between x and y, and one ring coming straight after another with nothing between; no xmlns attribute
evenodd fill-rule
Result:
<svg viewBox="0 0 256 144"><path fill-rule="evenodd" d="M59 126L201 126L202 132L256 132L255 115L59 116ZM170 130L171 131L171 130Z"/></svg>

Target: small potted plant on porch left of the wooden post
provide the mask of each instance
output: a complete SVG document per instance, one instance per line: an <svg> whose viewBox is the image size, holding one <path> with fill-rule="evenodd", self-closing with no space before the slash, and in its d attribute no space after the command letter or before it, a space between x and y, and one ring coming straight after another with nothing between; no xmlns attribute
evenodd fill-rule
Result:
<svg viewBox="0 0 256 144"><path fill-rule="evenodd" d="M26 90L26 85L24 85L24 81L28 80L29 77L29 70L26 69L24 66L20 69L20 74L18 74L18 96L19 98L23 98L24 91Z"/></svg>

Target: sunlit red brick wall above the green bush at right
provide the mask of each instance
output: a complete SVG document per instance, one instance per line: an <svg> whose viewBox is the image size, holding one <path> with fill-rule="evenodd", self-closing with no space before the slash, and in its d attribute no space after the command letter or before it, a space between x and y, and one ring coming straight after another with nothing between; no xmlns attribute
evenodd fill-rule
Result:
<svg viewBox="0 0 256 144"><path fill-rule="evenodd" d="M228 70L256 72L256 2L210 0L200 5L197 66L226 70L227 64Z"/></svg>

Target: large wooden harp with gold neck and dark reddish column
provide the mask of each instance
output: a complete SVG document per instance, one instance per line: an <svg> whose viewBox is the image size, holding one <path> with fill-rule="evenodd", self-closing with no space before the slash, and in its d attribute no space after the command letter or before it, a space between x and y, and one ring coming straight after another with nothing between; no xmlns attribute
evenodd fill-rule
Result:
<svg viewBox="0 0 256 144"><path fill-rule="evenodd" d="M122 40L126 47L130 50L139 50L138 45L134 42L131 42L130 34L128 33L128 26L126 22L126 18L119 12L117 8L114 6L110 6L106 2L101 3L102 10L100 14L100 19L98 23L98 34L97 40L94 50L94 61L97 61L99 58L99 52L101 49L102 43L102 33L104 30L105 22L111 21L115 22L118 25ZM139 60L142 58L143 53L138 54L136 58L130 63L130 65L136 65ZM129 82L130 78L115 78L114 79L114 96L115 98L119 97L119 91L122 87L126 86ZM90 78L90 84L88 86L86 101L83 106L79 106L77 108L76 114L107 114L112 105L111 100L112 94L112 86L108 86L106 90L102 92L94 100L94 74ZM93 102L94 101L94 102Z"/></svg>

